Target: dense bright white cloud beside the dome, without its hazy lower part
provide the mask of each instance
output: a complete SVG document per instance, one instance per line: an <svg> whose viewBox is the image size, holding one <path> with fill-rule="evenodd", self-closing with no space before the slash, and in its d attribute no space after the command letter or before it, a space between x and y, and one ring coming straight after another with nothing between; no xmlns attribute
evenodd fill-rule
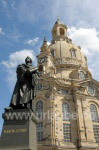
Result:
<svg viewBox="0 0 99 150"><path fill-rule="evenodd" d="M99 32L95 28L69 28L68 30L70 38L74 43L80 45L85 54L91 54L92 52L99 52Z"/></svg>

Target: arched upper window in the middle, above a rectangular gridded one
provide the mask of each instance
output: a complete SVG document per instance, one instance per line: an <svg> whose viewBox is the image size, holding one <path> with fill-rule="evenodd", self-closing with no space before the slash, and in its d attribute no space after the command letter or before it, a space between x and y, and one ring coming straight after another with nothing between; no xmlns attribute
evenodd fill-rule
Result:
<svg viewBox="0 0 99 150"><path fill-rule="evenodd" d="M67 103L63 103L62 113L63 113L63 120L69 121L70 120L70 112L69 112L69 105Z"/></svg>

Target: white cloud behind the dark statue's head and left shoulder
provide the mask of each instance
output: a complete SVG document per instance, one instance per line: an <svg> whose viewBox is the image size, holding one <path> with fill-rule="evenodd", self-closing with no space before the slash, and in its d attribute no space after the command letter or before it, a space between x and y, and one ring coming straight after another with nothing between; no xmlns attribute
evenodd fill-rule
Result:
<svg viewBox="0 0 99 150"><path fill-rule="evenodd" d="M8 61L2 61L2 65L5 66L7 71L6 81L9 89L12 91L16 82L16 67L18 64L24 63L25 58L29 56L33 61L33 65L36 65L36 56L32 50L20 50L15 53L12 53L9 56Z"/></svg>

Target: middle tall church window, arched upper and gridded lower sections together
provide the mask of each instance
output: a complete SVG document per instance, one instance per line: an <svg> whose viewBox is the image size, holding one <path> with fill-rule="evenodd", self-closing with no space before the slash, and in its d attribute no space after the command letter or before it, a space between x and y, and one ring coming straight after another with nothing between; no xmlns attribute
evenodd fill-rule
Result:
<svg viewBox="0 0 99 150"><path fill-rule="evenodd" d="M70 112L69 112L69 105L67 103L62 104L62 112L63 112L64 142L71 142Z"/></svg>

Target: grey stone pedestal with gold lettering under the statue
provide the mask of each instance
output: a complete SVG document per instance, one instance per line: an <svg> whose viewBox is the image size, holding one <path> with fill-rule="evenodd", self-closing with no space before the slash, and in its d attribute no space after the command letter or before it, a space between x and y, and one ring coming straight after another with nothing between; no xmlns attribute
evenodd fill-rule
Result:
<svg viewBox="0 0 99 150"><path fill-rule="evenodd" d="M37 150L37 119L29 109L5 112L0 150Z"/></svg>

